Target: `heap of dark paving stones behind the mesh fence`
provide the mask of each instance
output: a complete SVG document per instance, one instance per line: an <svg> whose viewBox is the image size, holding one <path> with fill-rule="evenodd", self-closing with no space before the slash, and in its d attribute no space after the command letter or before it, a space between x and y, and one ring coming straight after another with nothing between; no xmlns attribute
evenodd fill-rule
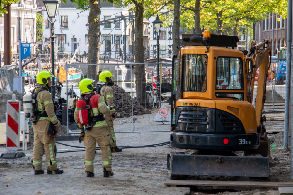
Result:
<svg viewBox="0 0 293 195"><path fill-rule="evenodd" d="M114 85L112 87L114 95L114 104L116 110L116 118L130 117L132 113L131 96L125 92L122 87ZM140 105L136 99L133 99L133 115L151 114L151 111Z"/></svg>

